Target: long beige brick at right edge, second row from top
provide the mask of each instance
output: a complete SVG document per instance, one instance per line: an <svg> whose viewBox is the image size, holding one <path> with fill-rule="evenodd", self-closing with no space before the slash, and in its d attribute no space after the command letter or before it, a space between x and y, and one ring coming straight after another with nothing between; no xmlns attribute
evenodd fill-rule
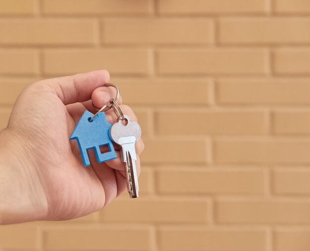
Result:
<svg viewBox="0 0 310 251"><path fill-rule="evenodd" d="M221 43L309 43L309 18L224 18L219 22Z"/></svg>

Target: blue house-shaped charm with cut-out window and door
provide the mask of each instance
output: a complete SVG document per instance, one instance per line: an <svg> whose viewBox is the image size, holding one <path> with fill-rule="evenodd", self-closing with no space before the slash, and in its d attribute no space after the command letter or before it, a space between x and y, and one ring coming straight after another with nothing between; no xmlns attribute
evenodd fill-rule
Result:
<svg viewBox="0 0 310 251"><path fill-rule="evenodd" d="M85 167L90 165L87 153L89 149L95 150L99 163L116 158L112 141L108 135L112 125L106 121L104 112L99 113L92 122L89 122L93 116L91 112L85 111L70 137L70 140L77 140ZM102 153L100 148L105 145L108 146L109 152Z"/></svg>

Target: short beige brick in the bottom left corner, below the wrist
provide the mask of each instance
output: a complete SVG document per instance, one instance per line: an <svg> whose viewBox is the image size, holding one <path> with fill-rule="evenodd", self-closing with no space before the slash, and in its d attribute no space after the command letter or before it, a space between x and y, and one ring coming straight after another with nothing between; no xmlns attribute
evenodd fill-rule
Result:
<svg viewBox="0 0 310 251"><path fill-rule="evenodd" d="M39 229L34 226L0 226L0 247L3 250L37 250L39 236Z"/></svg>

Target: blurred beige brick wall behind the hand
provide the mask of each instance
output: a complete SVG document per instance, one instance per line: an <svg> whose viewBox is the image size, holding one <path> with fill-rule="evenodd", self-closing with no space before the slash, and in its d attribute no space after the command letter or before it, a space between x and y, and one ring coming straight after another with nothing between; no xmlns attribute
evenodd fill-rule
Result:
<svg viewBox="0 0 310 251"><path fill-rule="evenodd" d="M106 69L141 196L0 227L4 251L309 251L309 0L0 0L0 127L21 90Z"/></svg>

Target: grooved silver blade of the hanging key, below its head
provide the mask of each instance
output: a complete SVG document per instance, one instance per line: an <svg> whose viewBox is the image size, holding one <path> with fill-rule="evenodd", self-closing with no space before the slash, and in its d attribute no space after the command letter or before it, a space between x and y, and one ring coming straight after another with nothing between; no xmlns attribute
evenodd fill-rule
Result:
<svg viewBox="0 0 310 251"><path fill-rule="evenodd" d="M132 160L129 151L126 152L126 172L127 172L127 188L130 198L139 197L139 183L136 169L136 163Z"/></svg>

